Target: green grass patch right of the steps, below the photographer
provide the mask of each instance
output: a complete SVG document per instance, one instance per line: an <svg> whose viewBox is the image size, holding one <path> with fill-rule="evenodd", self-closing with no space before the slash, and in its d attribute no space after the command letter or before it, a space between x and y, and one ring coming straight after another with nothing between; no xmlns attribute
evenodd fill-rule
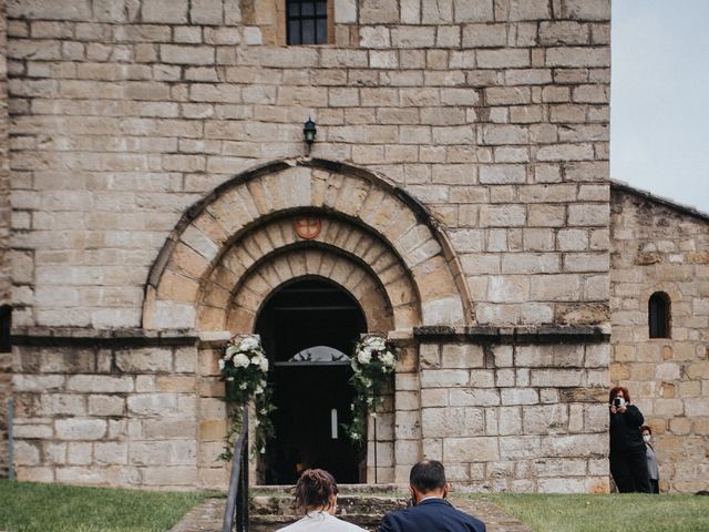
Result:
<svg viewBox="0 0 709 532"><path fill-rule="evenodd" d="M534 532L709 531L709 497L690 494L490 494Z"/></svg>

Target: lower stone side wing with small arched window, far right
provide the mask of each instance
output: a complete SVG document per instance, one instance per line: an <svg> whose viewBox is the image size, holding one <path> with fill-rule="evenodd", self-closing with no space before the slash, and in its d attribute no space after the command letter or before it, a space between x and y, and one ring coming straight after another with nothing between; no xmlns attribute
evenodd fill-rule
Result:
<svg viewBox="0 0 709 532"><path fill-rule="evenodd" d="M625 185L612 194L610 380L653 428L664 491L709 489L709 216ZM649 338L648 299L671 300Z"/></svg>

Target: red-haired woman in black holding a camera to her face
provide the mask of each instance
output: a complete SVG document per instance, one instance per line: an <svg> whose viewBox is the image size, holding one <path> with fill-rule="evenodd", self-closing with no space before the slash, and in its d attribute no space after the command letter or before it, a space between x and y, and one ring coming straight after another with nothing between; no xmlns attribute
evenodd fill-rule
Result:
<svg viewBox="0 0 709 532"><path fill-rule="evenodd" d="M610 411L610 474L620 493L650 493L645 441L640 427L645 418L630 405L630 393L616 386L608 396Z"/></svg>

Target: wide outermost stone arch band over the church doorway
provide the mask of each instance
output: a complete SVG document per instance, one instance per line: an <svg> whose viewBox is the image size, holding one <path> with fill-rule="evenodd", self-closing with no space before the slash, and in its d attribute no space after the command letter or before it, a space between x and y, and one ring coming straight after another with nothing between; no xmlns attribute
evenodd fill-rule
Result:
<svg viewBox="0 0 709 532"><path fill-rule="evenodd" d="M460 262L423 205L370 171L322 160L288 160L239 174L187 209L151 269L143 326L197 327L201 287L233 245L243 241L256 262L264 249L254 239L255 228L308 211L361 227L399 259L420 297L412 326L471 323L472 303Z"/></svg>

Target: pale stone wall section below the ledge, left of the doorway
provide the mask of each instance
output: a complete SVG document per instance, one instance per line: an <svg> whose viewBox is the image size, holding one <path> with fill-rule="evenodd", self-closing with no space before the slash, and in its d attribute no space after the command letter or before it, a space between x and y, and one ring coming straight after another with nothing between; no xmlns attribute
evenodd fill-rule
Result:
<svg viewBox="0 0 709 532"><path fill-rule="evenodd" d="M13 390L20 480L199 484L197 417L215 406L197 395L194 345L130 347L113 338L82 348L69 332L59 341L54 336L53 346L32 347L19 338Z"/></svg>

